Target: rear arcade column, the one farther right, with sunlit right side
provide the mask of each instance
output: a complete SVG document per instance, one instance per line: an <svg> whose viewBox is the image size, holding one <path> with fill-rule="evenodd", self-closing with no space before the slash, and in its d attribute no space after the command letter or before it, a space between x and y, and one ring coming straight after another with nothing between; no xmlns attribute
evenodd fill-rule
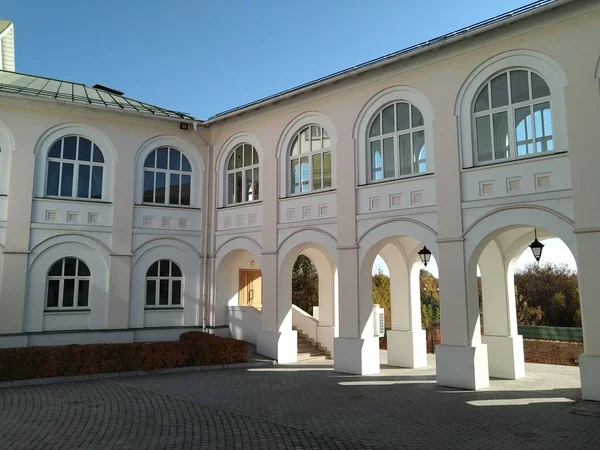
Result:
<svg viewBox="0 0 600 450"><path fill-rule="evenodd" d="M523 337L517 328L514 264L505 264L495 241L479 257L483 296L483 343L488 346L490 376L516 380L525 376Z"/></svg>

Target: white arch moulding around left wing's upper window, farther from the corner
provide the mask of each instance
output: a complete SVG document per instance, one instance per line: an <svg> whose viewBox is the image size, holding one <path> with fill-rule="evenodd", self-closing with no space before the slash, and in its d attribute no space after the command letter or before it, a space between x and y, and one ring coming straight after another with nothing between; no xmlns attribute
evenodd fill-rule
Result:
<svg viewBox="0 0 600 450"><path fill-rule="evenodd" d="M117 150L106 134L97 128L79 123L63 123L46 130L37 140L34 148L35 154L35 178L33 194L35 197L43 197L46 186L46 156L50 147L58 139L67 135L83 136L98 145L105 159L105 171L103 175L102 200L112 202L113 190L118 161Z"/></svg>

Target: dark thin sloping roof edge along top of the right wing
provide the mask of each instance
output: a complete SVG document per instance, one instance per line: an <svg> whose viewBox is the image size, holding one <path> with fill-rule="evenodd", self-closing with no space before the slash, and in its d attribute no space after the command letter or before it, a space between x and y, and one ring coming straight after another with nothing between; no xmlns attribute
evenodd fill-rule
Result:
<svg viewBox="0 0 600 450"><path fill-rule="evenodd" d="M238 106L227 111L223 111L221 113L215 114L212 117L209 117L206 120L206 122L216 122L220 119L224 119L225 117L241 114L242 112L256 109L260 106L263 106L264 104L272 103L274 101L279 101L287 97L298 95L300 91L315 89L318 86L320 87L325 84L333 83L339 81L342 78L351 75L357 75L367 70L374 69L375 67L381 67L383 65L399 61L406 57L414 56L417 53L423 53L428 50L433 50L434 48L437 48L440 45L455 42L456 40L462 39L467 36L472 36L474 34L479 34L483 31L488 31L492 28L497 27L498 25L503 25L514 20L522 19L526 16L535 14L537 12L541 12L544 9L559 6L565 3L569 3L571 1L572 0L537 0L533 3L521 6L517 9L513 9L512 11L506 12L504 14L500 14L490 19L486 19L473 25L469 25L468 27L461 28L459 30L444 34L442 36L429 39L428 41L421 42L420 44L412 45L405 49L389 53L387 55L358 64L356 66L349 67L347 69L340 70L338 72L332 73L331 75L326 75L324 77L318 78L313 81L309 81L308 83L301 84L299 86L287 89L277 94L270 95L268 97L264 97L250 103L246 103L245 105ZM208 123L206 124L208 125Z"/></svg>

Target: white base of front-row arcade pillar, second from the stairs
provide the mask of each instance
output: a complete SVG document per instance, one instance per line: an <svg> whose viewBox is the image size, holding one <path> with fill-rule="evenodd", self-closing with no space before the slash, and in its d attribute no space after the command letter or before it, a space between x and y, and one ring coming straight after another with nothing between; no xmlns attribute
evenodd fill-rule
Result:
<svg viewBox="0 0 600 450"><path fill-rule="evenodd" d="M356 375L379 373L379 338L335 338L333 370Z"/></svg>

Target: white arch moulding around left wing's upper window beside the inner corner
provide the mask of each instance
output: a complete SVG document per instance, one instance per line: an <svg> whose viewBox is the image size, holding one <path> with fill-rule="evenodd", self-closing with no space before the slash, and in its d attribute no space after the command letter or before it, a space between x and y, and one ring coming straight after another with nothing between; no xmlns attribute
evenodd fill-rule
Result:
<svg viewBox="0 0 600 450"><path fill-rule="evenodd" d="M144 161L150 152L159 147L176 148L189 159L190 164L192 165L192 186L190 190L194 193L192 195L190 206L193 208L202 208L202 200L204 197L202 195L202 191L205 189L205 186L202 183L204 182L204 173L206 170L204 159L202 158L200 151L191 143L185 139L181 139L180 137L170 135L161 135L150 138L145 141L137 150L134 159L134 202L136 204L141 204L143 199ZM167 205L165 205L165 207L167 207Z"/></svg>

